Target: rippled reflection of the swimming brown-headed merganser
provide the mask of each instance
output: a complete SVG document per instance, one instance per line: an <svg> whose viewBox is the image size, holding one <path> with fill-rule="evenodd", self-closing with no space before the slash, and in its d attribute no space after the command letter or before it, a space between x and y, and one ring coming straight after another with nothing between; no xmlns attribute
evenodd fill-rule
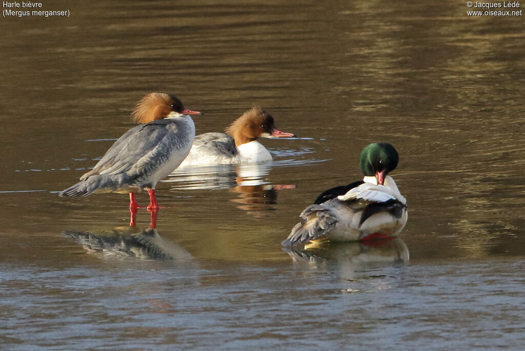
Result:
<svg viewBox="0 0 525 351"><path fill-rule="evenodd" d="M176 182L172 190L229 189L237 198L231 201L238 209L261 216L274 210L277 191L295 189L293 184L271 184L265 178L271 162L219 165L176 169L167 182Z"/></svg>

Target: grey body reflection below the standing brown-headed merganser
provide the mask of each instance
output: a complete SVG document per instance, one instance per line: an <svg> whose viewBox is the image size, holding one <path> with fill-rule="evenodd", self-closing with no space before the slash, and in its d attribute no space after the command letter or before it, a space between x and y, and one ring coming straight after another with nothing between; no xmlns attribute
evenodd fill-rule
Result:
<svg viewBox="0 0 525 351"><path fill-rule="evenodd" d="M124 226L108 232L78 232L65 230L62 235L75 239L88 252L113 256L133 256L141 259L191 260L183 247L164 240L155 228L140 229Z"/></svg>

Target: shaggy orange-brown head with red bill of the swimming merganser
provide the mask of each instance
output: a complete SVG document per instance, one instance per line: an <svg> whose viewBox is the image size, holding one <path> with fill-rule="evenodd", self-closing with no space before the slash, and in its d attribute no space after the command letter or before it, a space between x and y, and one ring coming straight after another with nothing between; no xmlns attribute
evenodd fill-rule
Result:
<svg viewBox="0 0 525 351"><path fill-rule="evenodd" d="M244 112L226 128L226 133L235 139L235 145L254 141L257 138L283 138L295 137L292 133L286 133L275 127L274 117L258 106L254 106Z"/></svg>

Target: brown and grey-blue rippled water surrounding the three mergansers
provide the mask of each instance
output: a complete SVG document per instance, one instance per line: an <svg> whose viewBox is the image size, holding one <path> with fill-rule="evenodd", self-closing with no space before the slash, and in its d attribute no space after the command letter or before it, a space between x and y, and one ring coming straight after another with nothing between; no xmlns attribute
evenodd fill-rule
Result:
<svg viewBox="0 0 525 351"><path fill-rule="evenodd" d="M0 19L3 347L522 347L523 17L455 1L43 7L70 17ZM204 111L198 133L259 104L300 138L263 140L270 164L176 172L156 233L145 210L127 227L125 195L59 198L151 91ZM402 240L281 250L321 191L361 178L372 141L400 152Z"/></svg>

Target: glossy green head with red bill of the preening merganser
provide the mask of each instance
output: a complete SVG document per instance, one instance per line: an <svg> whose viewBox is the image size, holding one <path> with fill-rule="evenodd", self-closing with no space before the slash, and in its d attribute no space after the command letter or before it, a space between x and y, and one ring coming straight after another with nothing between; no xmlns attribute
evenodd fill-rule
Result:
<svg viewBox="0 0 525 351"><path fill-rule="evenodd" d="M386 175L397 167L399 155L394 147L386 142L367 145L359 157L359 168L367 177L375 177L377 184L383 185Z"/></svg>

